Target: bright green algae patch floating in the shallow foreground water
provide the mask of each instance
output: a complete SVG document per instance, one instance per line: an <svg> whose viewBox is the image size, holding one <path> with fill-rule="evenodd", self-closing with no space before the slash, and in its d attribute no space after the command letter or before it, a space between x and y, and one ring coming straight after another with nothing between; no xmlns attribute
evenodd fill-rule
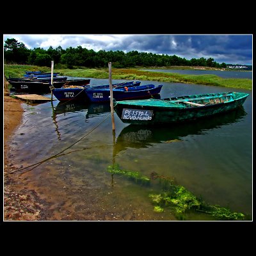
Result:
<svg viewBox="0 0 256 256"><path fill-rule="evenodd" d="M220 205L209 205L196 197L191 191L174 184L172 177L164 177L152 172L150 178L141 175L139 172L132 172L131 170L122 170L117 164L108 166L108 172L111 174L118 174L136 182L138 180L150 184L152 179L159 179L164 184L161 193L150 193L148 196L154 205L154 211L163 212L166 207L171 210L178 220L186 220L186 214L191 211L204 212L216 218L216 220L244 220L245 215L242 212L232 212L230 209L220 207ZM166 184L168 186L166 186Z"/></svg>

